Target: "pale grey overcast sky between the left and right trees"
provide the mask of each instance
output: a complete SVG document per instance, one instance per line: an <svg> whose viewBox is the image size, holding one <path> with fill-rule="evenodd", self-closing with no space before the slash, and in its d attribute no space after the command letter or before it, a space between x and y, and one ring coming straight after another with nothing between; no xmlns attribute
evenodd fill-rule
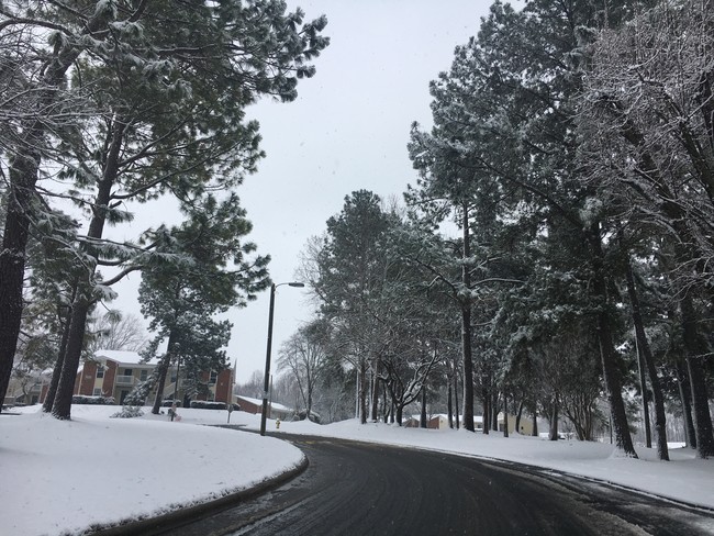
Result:
<svg viewBox="0 0 714 536"><path fill-rule="evenodd" d="M300 254L344 198L368 189L401 200L415 171L406 153L413 121L431 124L428 82L448 70L454 47L478 32L490 0L288 0L306 20L327 15L331 45L317 72L298 85L291 103L261 102L249 110L260 123L267 157L238 194L254 224L250 239L272 257L276 283L292 281ZM130 289L113 305L138 315ZM230 314L228 346L237 382L263 371L269 292ZM276 294L272 371L282 342L311 316L302 289Z"/></svg>

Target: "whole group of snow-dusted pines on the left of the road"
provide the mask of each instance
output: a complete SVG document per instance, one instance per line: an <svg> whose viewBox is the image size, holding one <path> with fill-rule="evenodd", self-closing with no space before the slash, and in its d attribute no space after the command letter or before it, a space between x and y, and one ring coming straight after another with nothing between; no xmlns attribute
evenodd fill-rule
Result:
<svg viewBox="0 0 714 536"><path fill-rule="evenodd" d="M235 193L264 156L245 110L294 100L325 25L280 0L2 2L3 398L42 335L54 357L44 409L69 418L88 319L134 271L157 334L145 357L168 343L155 380L176 355L190 370L225 365L230 324L213 314L270 284ZM159 198L182 223L108 237Z"/></svg>

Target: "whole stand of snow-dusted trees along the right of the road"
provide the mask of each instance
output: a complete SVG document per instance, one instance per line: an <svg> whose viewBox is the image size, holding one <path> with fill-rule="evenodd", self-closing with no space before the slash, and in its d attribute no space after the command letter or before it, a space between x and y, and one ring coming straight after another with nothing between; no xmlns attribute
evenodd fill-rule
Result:
<svg viewBox="0 0 714 536"><path fill-rule="evenodd" d="M475 404L486 433L565 415L636 457L637 401L661 459L670 413L714 455L713 24L701 0L493 3L412 125L404 206L355 191L305 249L316 314L281 359L308 413L325 389L401 422L438 391L469 431Z"/></svg>

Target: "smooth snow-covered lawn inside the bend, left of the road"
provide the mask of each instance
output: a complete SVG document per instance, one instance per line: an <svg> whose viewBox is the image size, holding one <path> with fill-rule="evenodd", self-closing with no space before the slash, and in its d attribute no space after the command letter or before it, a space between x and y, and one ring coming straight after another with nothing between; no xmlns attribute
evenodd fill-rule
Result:
<svg viewBox="0 0 714 536"><path fill-rule="evenodd" d="M303 458L279 439L197 426L225 424L227 411L110 418L120 409L74 405L71 421L38 406L0 414L2 534L81 534L250 488Z"/></svg>

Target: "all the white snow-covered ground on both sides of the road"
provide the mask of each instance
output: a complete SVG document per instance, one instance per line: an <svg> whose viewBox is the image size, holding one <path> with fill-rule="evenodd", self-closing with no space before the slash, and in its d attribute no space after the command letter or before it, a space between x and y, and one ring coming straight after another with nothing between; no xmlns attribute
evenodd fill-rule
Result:
<svg viewBox="0 0 714 536"><path fill-rule="evenodd" d="M81 534L93 523L144 517L255 485L300 465L295 447L271 437L197 426L225 424L227 412L180 410L166 415L109 418L116 406L75 405L72 421L38 413L0 415L0 533ZM259 415L234 412L231 424L258 429ZM674 500L714 507L714 460L690 449L654 449L639 460L616 456L611 445L464 431L400 428L345 421L268 422L268 429L388 443L520 461L583 474Z"/></svg>

